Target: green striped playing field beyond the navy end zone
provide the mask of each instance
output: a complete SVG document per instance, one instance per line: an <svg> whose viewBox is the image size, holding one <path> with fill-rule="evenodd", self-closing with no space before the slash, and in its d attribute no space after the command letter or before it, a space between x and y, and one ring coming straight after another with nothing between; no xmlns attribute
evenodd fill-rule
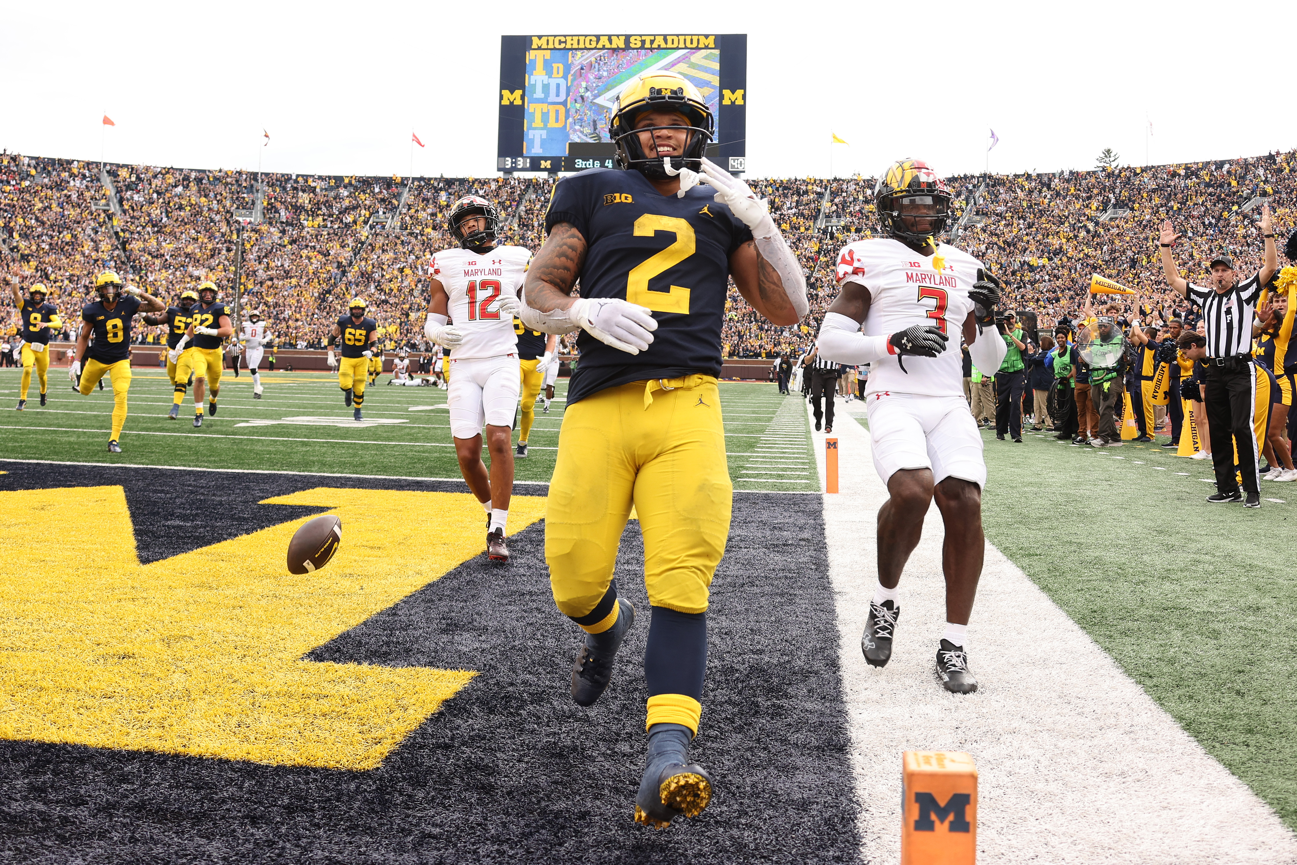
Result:
<svg viewBox="0 0 1297 865"><path fill-rule="evenodd" d="M40 407L32 384L27 410L17 412L19 373L0 370L0 456L5 458L459 477L446 392L388 386L388 375L367 389L364 423L357 424L332 375L263 373L265 398L253 399L250 376L235 379L227 372L217 416L204 418L202 428L195 429L192 396L185 394L180 419L169 420L171 385L165 372L136 367L123 453L114 455L108 453L113 398L106 380L104 390L82 397L73 392L65 368L51 368L48 405ZM537 406L529 455L515 460L519 481L549 481L565 392L560 379L550 412ZM773 384L722 383L721 406L735 489L818 489L800 399L781 397Z"/></svg>

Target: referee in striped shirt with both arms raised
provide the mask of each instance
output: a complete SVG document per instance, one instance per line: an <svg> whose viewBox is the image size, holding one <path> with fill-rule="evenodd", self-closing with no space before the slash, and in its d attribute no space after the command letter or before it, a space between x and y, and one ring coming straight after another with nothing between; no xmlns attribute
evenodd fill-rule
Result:
<svg viewBox="0 0 1297 865"><path fill-rule="evenodd" d="M1211 259L1209 288L1192 285L1180 278L1171 255L1171 248L1180 235L1171 222L1162 223L1162 270L1166 281L1180 297L1202 309L1208 338L1206 415L1211 433L1211 463L1215 468L1217 492L1209 502L1239 502L1246 507L1261 507L1261 475L1253 437L1253 411L1255 363L1252 358L1252 319L1257 311L1257 298L1279 270L1275 250L1275 227L1270 220L1270 205L1261 207L1261 236L1266 243L1266 255L1261 270L1250 279L1239 280L1233 261L1224 253ZM1232 441L1231 441L1232 437ZM1239 469L1243 490L1239 494L1235 480L1233 450L1239 449Z"/></svg>

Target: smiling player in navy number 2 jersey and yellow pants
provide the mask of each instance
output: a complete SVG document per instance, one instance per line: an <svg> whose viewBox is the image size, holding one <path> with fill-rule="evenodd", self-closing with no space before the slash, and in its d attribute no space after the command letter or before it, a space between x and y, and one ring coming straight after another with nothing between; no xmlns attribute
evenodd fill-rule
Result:
<svg viewBox="0 0 1297 865"><path fill-rule="evenodd" d="M711 799L687 748L702 716L708 586L730 524L716 385L728 280L774 324L796 324L808 306L765 202L703 158L715 119L689 80L632 79L611 127L623 170L555 184L519 318L546 333L582 331L545 533L554 599L585 630L572 670L580 705L607 687L634 624L612 572L632 506L639 516L651 622L636 821L660 829Z"/></svg>

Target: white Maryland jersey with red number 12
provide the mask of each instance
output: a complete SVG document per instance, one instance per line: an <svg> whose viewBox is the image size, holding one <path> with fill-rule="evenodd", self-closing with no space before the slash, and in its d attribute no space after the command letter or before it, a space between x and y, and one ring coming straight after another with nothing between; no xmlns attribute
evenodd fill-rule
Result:
<svg viewBox="0 0 1297 865"><path fill-rule="evenodd" d="M450 298L450 320L464 335L457 361L498 358L518 350L514 316L502 315L499 298L518 297L532 253L521 246L495 246L484 253L444 249L432 257L432 276Z"/></svg>

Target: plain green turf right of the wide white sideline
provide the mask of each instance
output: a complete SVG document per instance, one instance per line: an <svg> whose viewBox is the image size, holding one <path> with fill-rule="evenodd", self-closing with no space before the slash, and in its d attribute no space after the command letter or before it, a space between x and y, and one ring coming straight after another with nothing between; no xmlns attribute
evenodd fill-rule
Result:
<svg viewBox="0 0 1297 865"><path fill-rule="evenodd" d="M1297 488L1208 504L1209 462L982 434L988 539L1297 829Z"/></svg>

